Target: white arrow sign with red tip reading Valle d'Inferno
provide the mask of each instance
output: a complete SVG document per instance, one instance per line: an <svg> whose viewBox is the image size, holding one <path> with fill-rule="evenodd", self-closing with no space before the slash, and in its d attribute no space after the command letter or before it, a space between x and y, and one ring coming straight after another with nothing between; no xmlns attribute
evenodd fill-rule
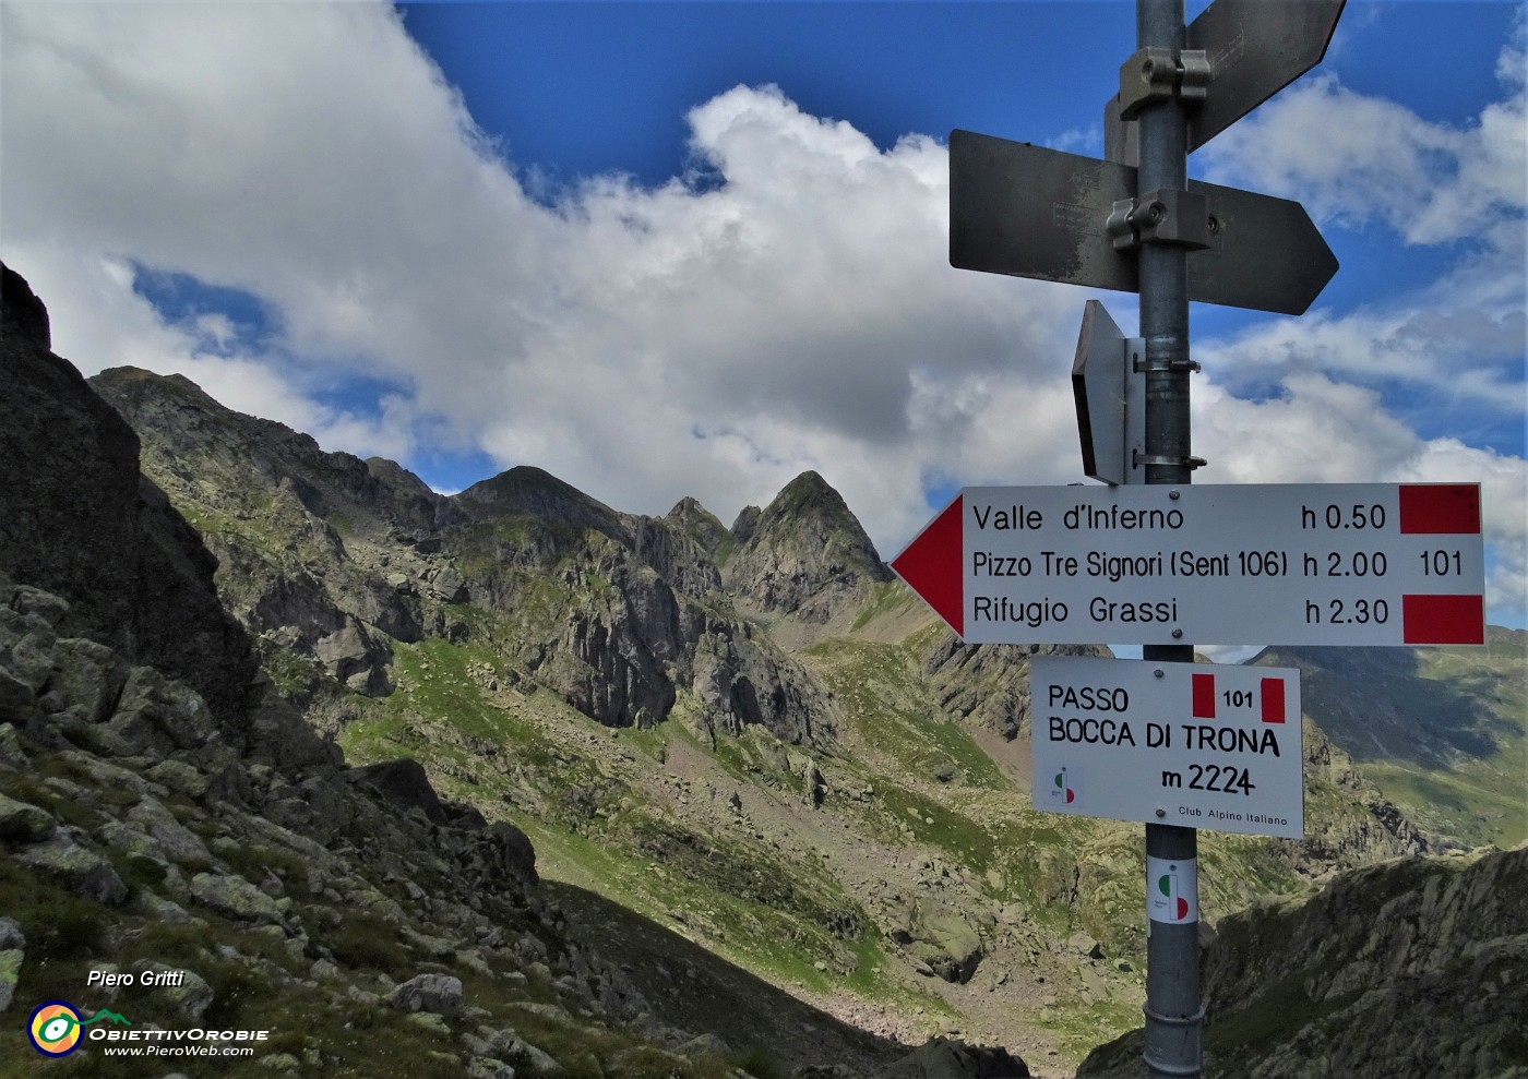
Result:
<svg viewBox="0 0 1528 1079"><path fill-rule="evenodd" d="M891 569L967 643L1485 642L1475 483L966 488Z"/></svg>

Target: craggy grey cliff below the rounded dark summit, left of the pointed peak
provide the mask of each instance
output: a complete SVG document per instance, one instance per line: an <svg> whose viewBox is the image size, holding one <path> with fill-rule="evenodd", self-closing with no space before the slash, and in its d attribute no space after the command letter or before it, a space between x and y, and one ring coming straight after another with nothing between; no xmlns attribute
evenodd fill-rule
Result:
<svg viewBox="0 0 1528 1079"><path fill-rule="evenodd" d="M446 549L474 595L513 619L529 674L581 712L651 726L686 691L711 735L756 723L788 743L831 737L833 702L732 611L678 520L619 514L529 466L457 501L471 520Z"/></svg>

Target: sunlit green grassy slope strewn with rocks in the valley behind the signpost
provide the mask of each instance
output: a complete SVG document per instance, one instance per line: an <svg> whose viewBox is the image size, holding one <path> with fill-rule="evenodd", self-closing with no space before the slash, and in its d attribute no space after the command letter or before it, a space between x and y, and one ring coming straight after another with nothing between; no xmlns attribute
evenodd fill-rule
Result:
<svg viewBox="0 0 1528 1079"><path fill-rule="evenodd" d="M342 744L356 763L417 757L443 795L523 827L559 888L597 893L805 1000L885 1009L914 1038L1008 1024L1073 1062L1138 1022L1140 828L1034 812L973 732L929 700L921 637L874 639L877 613L903 614L895 601L876 605L857 633L804 656L842 714L840 752L816 758L828 781L816 812L802 807L799 749L761 731L712 746L683 697L654 729L610 731L516 683L484 643L397 646L399 692L371 702ZM466 614L478 640L510 633L487 611ZM924 864L949 877L946 902L973 923L1022 908L1016 940L984 931L984 963L993 981L1051 970L1042 987L993 992L993 1007L969 987L909 977L868 889L877 865L915 889ZM1302 886L1254 838L1204 833L1201 864L1212 915ZM1079 929L1105 941L1106 963L1068 957Z"/></svg>

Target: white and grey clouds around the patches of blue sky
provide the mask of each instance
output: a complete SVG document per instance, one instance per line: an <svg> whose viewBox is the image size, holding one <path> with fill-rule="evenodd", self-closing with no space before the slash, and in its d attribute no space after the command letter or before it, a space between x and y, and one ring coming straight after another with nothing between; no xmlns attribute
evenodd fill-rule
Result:
<svg viewBox="0 0 1528 1079"><path fill-rule="evenodd" d="M1079 478L1067 373L1085 295L950 269L947 159L927 138L880 151L776 87L736 87L688 116L694 159L720 185L604 176L547 206L391 8L12 2L0 20L3 254L49 304L57 350L87 373L182 371L327 448L406 463L443 439L642 512L695 495L730 521L816 468L883 553L927 520L926 484ZM1297 90L1288 113L1276 99L1248 122L1293 145L1323 107L1404 119L1335 84ZM1497 182L1513 102L1520 93L1500 124L1407 144L1404 160L1452 193L1410 173L1390 191L1361 145L1337 179L1322 164L1329 142L1297 153L1290 180L1332 214L1361 209L1343 185L1369 185L1383 205L1420 197L1499 235L1522 206ZM1196 446L1212 458L1201 478L1476 469L1493 477L1488 515L1511 507L1513 477L1520 506L1520 458L1423 440L1349 385L1384 367L1470 402L1520 387L1500 362L1439 374L1433 350L1459 355L1461 327L1490 336L1493 355L1522 338L1520 266L1481 258L1415 304L1210 342L1201 358L1221 381L1195 391ZM255 347L215 316L167 324L133 292L128 260L248 290L278 332ZM1455 319L1482 304L1485 322ZM1397 344L1377 358L1375 341ZM1232 396L1216 348L1284 396ZM353 413L318 403L347 376L396 390ZM1522 515L1516 530L1490 520L1499 561L1520 575Z"/></svg>

